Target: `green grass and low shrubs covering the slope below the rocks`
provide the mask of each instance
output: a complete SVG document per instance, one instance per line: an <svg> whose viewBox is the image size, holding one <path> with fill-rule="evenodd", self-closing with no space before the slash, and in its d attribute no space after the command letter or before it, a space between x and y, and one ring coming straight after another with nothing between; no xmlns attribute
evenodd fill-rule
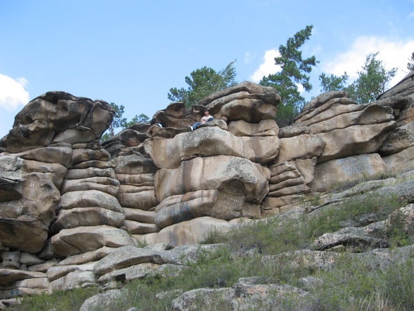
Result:
<svg viewBox="0 0 414 311"><path fill-rule="evenodd" d="M310 198L308 202L319 202ZM406 261L387 263L383 268L369 256L344 249L335 254L335 264L328 268L310 265L297 255L310 249L311 243L327 232L343 227L343 222L365 215L385 220L407 202L394 195L378 196L369 191L350 196L328 208L311 206L311 214L285 217L284 214L247 222L228 234L210 232L205 243L219 243L217 252L200 254L197 263L188 265L178 275L151 274L145 279L124 283L122 299L110 301L98 310L172 310L171 301L182 292L197 288L231 288L239 278L253 277L264 283L300 287L302 278L316 280L308 292L312 310L414 310L414 251ZM397 214L398 215L398 214ZM398 216L391 229L384 232L391 251L411 245ZM405 241L405 242L404 242ZM402 243L404 242L404 243ZM350 247L351 248L351 247ZM363 253L360 253L363 255ZM14 310L79 310L88 296L103 292L97 288L68 290L25 297ZM295 303L295 301L291 301ZM212 305L199 301L197 310L229 310L228 301L217 294ZM263 310L267 310L264 308ZM286 308L295 310L295 308Z"/></svg>

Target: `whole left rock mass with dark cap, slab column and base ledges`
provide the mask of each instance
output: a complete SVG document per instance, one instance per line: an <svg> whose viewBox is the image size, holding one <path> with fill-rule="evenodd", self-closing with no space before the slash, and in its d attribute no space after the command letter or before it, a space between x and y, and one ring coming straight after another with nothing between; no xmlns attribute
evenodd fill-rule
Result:
<svg viewBox="0 0 414 311"><path fill-rule="evenodd" d="M29 102L2 138L1 298L47 290L55 258L100 247L91 241L132 245L117 228L124 222L119 182L98 143L113 113L100 100L48 92Z"/></svg>

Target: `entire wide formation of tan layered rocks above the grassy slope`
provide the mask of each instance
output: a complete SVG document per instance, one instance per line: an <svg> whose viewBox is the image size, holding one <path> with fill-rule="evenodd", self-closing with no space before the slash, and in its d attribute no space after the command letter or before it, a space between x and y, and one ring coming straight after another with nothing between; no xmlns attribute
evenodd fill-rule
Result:
<svg viewBox="0 0 414 311"><path fill-rule="evenodd" d="M337 183L413 170L413 77L369 104L324 93L282 129L275 89L244 82L102 143L108 103L35 98L0 142L0 299L181 269L176 252L195 250L180 245L212 230L284 213ZM189 131L200 109L215 118Z"/></svg>

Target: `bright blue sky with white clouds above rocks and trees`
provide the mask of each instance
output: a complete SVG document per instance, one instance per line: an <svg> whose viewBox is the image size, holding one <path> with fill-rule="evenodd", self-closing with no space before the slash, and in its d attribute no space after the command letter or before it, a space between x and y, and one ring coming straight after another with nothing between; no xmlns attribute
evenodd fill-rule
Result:
<svg viewBox="0 0 414 311"><path fill-rule="evenodd" d="M414 0L0 0L0 138L34 97L66 91L152 117L170 88L203 66L236 59L237 81L275 73L273 59L313 25L303 56L320 73L351 78L366 55L406 75L414 51ZM392 85L391 85L392 86Z"/></svg>

